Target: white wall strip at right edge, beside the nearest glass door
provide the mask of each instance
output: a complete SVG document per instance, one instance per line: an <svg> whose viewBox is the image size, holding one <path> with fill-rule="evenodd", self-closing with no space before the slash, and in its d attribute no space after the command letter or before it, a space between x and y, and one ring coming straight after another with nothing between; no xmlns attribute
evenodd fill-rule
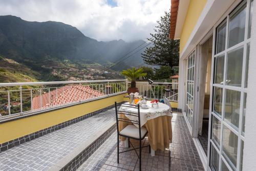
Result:
<svg viewBox="0 0 256 171"><path fill-rule="evenodd" d="M256 3L253 3L243 170L256 170Z"/></svg>

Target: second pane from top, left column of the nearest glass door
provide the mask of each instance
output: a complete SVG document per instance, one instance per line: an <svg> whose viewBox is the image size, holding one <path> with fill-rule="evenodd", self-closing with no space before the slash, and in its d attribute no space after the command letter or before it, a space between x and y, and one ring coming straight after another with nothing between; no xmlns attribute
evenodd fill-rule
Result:
<svg viewBox="0 0 256 171"><path fill-rule="evenodd" d="M215 83L223 84L224 59L224 55L215 58Z"/></svg>

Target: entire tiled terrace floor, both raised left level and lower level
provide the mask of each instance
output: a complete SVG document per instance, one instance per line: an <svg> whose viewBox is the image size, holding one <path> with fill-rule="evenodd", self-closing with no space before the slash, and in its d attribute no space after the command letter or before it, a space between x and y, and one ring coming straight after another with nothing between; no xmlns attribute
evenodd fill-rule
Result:
<svg viewBox="0 0 256 171"><path fill-rule="evenodd" d="M13 147L0 153L0 170L48 170L76 146L94 136L104 123L115 120L114 109L67 126L38 139ZM142 170L203 170L194 141L191 138L183 115L175 113L172 119L173 142L164 152L155 157L142 151ZM120 154L117 164L116 132L84 162L78 170L138 170L135 151ZM138 146L137 141L132 141ZM148 144L147 139L144 145ZM125 150L120 142L120 151Z"/></svg>

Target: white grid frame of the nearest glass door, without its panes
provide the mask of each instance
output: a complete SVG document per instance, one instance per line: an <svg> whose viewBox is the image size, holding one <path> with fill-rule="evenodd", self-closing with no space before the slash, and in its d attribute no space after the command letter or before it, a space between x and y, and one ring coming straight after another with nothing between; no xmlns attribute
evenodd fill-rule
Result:
<svg viewBox="0 0 256 171"><path fill-rule="evenodd" d="M210 146L212 145L217 153L219 154L219 170L221 170L221 161L223 161L226 166L228 167L228 169L230 171L232 171L232 168L229 166L229 164L227 163L226 159L223 157L222 155L222 149L223 149L223 125L225 125L226 127L228 127L228 129L230 129L234 134L236 134L238 136L238 153L237 153L237 165L236 168L239 171L240 170L240 154L241 154L241 140L243 140L243 142L245 143L245 139L244 139L244 135L242 134L242 116L243 116L243 102L244 102L244 93L247 93L247 88L244 87L245 85L245 67L246 67L246 55L247 55L247 45L250 43L250 39L251 38L247 38L248 36L248 21L249 21L249 10L250 10L250 0L246 0L246 21L245 21L245 35L244 35L244 41L240 42L237 45L234 45L230 48L228 48L228 29L229 29L229 14L230 12L235 9L237 7L237 5L239 5L240 2L242 1L237 1L236 3L234 3L227 11L226 13L220 18L220 20L217 22L217 24L214 26L214 34L213 34L213 39L212 39L212 63L211 63L211 68L212 71L214 71L215 68L215 58L220 56L220 55L225 55L224 56L224 78L223 80L226 80L226 61L227 61L227 53L237 49L239 47L243 47L243 66L242 66L242 82L241 82L241 87L234 87L234 86L227 86L226 82L224 81L224 84L216 84L214 83L214 75L215 72L211 72L211 85L210 85L210 115L209 115L209 133L208 133L208 152L207 152L207 165L208 165L208 169L210 170L210 151L211 148ZM254 0L255 3L255 0ZM223 20L226 19L226 39L225 39L225 50L215 54L216 52L216 30L217 27L223 22ZM222 95L222 115L221 117L217 114L215 114L214 112L212 112L212 98L213 98L213 88L217 87L217 88L222 88L223 90L223 95ZM228 124L227 121L224 120L224 109L225 109L225 91L226 89L228 90L235 90L235 91L239 91L241 93L241 97L240 97L240 116L239 116L239 128L238 130L234 129L230 124ZM216 146L216 144L211 140L211 127L212 127L212 116L216 117L220 122L221 122L221 135L220 135L220 148Z"/></svg>

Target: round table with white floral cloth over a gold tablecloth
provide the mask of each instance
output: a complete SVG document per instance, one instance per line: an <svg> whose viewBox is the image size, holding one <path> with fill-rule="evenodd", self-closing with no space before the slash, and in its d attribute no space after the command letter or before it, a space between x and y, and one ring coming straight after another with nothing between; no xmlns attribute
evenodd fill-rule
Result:
<svg viewBox="0 0 256 171"><path fill-rule="evenodd" d="M154 156L157 149L161 149L163 151L165 148L168 148L169 143L172 142L171 120L173 114L172 109L164 103L158 102L158 105L154 104L152 106L151 101L147 101L146 104L148 107L147 109L142 108L142 104L140 104L140 123L141 126L144 126L147 129L147 138L151 145L151 156ZM121 105L119 111L138 113L138 109L129 108L125 105ZM129 120L138 120L138 117L131 115L122 115L122 117ZM120 122L120 131L124 129L127 124L129 123ZM138 124L134 125L138 127ZM127 147L129 144L127 139L121 137L121 140L125 141L125 147Z"/></svg>

